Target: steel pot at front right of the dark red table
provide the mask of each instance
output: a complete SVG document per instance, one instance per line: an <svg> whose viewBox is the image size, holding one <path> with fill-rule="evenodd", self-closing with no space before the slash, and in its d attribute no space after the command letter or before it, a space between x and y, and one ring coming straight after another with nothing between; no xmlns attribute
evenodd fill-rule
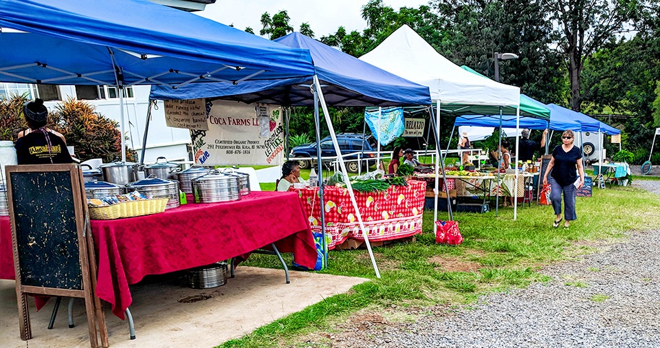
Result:
<svg viewBox="0 0 660 348"><path fill-rule="evenodd" d="M237 201L241 199L239 177L212 171L192 180L195 203Z"/></svg>

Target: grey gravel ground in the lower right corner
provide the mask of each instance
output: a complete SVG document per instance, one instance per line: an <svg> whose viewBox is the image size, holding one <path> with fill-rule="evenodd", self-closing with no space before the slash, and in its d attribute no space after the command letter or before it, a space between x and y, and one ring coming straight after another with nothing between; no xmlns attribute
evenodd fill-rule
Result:
<svg viewBox="0 0 660 348"><path fill-rule="evenodd" d="M634 184L660 193L660 182ZM352 318L331 347L660 347L660 230L600 249L544 268L547 283L426 309L415 323Z"/></svg>

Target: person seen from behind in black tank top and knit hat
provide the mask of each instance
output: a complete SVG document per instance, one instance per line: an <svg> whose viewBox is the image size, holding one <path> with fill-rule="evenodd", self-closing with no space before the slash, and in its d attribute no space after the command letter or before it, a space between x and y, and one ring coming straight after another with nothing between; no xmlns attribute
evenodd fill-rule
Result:
<svg viewBox="0 0 660 348"><path fill-rule="evenodd" d="M48 109L43 100L35 99L23 105L25 122L30 131L16 140L14 147L18 164L72 163L73 160L63 137L46 129Z"/></svg>

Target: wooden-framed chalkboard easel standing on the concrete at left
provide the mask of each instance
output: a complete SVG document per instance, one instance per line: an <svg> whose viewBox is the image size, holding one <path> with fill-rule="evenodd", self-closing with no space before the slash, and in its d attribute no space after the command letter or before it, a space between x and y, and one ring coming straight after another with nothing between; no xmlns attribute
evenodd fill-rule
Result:
<svg viewBox="0 0 660 348"><path fill-rule="evenodd" d="M94 295L96 256L80 166L7 166L6 172L21 339L32 338L28 294L67 296L85 298L91 347L108 347Z"/></svg>

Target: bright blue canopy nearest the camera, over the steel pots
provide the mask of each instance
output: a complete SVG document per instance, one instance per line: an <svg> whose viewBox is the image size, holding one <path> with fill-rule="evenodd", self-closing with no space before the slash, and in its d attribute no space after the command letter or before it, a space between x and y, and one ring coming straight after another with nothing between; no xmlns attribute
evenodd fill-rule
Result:
<svg viewBox="0 0 660 348"><path fill-rule="evenodd" d="M0 80L154 85L313 76L307 50L146 0L2 0Z"/></svg>

